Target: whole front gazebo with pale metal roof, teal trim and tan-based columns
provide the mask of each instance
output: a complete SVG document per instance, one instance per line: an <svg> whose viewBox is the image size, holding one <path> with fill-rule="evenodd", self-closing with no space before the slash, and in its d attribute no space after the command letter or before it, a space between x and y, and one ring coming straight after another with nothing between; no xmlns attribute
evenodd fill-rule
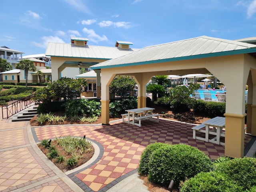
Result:
<svg viewBox="0 0 256 192"><path fill-rule="evenodd" d="M91 66L101 72L102 123L109 123L109 85L116 75L138 84L138 108L146 107L146 84L155 75L213 74L227 86L225 155L244 156L244 126L256 136L256 45L200 36L148 46ZM97 75L100 73L97 73ZM245 88L248 85L247 114Z"/></svg>

